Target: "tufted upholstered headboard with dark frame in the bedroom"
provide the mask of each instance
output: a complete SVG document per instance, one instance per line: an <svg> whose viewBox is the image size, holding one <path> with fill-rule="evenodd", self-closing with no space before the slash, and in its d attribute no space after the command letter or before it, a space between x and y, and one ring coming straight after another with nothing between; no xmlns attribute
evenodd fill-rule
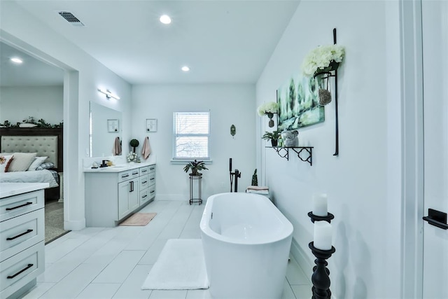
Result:
<svg viewBox="0 0 448 299"><path fill-rule="evenodd" d="M1 153L37 153L48 156L47 162L55 163L63 172L62 128L0 128Z"/></svg>

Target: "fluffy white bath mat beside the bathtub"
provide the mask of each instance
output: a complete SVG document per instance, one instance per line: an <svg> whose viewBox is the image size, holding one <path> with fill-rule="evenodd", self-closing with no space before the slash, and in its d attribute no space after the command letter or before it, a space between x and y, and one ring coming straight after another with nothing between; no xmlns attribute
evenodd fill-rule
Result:
<svg viewBox="0 0 448 299"><path fill-rule="evenodd" d="M209 288L201 239L169 239L142 290Z"/></svg>

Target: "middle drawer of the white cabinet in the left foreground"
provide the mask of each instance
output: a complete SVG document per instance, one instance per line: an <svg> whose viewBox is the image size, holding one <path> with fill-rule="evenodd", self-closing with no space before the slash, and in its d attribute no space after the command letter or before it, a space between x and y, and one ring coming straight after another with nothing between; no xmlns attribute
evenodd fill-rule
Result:
<svg viewBox="0 0 448 299"><path fill-rule="evenodd" d="M0 262L45 239L45 213L38 209L0 223Z"/></svg>

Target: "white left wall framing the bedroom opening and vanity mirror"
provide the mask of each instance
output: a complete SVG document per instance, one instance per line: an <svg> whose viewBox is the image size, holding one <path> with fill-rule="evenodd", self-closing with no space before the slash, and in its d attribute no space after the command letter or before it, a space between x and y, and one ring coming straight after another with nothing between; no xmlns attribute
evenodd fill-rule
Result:
<svg viewBox="0 0 448 299"><path fill-rule="evenodd" d="M85 227L82 158L88 155L89 101L123 112L123 139L130 137L131 86L14 1L0 2L0 39L66 69L64 79L64 227ZM97 91L118 95L108 101Z"/></svg>

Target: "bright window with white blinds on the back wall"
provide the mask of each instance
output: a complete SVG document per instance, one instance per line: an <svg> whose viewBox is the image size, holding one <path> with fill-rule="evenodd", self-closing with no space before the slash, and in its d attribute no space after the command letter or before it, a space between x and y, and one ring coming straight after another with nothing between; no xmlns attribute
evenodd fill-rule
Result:
<svg viewBox="0 0 448 299"><path fill-rule="evenodd" d="M209 160L210 112L173 113L173 160Z"/></svg>

